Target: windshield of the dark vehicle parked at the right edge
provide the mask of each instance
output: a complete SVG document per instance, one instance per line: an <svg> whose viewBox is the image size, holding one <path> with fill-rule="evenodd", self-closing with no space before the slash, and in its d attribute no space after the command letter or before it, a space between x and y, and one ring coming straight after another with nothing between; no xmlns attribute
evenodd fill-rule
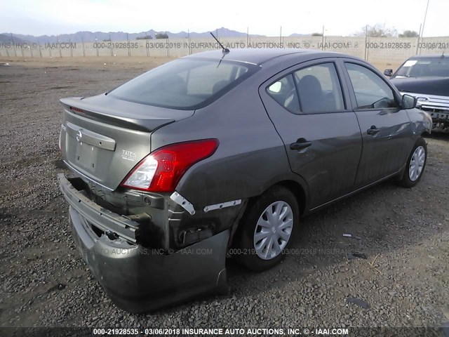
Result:
<svg viewBox="0 0 449 337"><path fill-rule="evenodd" d="M406 60L394 77L449 77L449 58Z"/></svg>

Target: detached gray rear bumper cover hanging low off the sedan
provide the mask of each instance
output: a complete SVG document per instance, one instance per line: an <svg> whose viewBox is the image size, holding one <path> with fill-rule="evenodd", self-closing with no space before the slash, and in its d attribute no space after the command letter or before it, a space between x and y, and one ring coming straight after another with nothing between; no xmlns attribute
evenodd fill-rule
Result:
<svg viewBox="0 0 449 337"><path fill-rule="evenodd" d="M102 223L102 228L138 224L101 209L77 191L63 174L58 175L58 180L70 204L76 246L120 308L130 312L151 311L227 289L225 257L229 230L168 255L135 244L132 239L111 240L105 234L98 237L92 230L92 222Z"/></svg>

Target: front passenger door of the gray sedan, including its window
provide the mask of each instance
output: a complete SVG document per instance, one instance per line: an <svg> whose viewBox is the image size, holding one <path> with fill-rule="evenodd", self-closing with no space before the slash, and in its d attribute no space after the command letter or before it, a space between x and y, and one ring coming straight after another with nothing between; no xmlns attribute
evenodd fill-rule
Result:
<svg viewBox="0 0 449 337"><path fill-rule="evenodd" d="M406 163L410 119L400 107L400 95L374 68L349 59L340 65L363 138L357 188L396 173Z"/></svg>

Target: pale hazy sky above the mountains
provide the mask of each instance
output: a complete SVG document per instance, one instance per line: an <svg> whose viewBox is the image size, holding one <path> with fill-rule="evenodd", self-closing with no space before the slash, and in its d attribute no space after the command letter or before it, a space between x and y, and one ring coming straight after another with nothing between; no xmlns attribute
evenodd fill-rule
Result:
<svg viewBox="0 0 449 337"><path fill-rule="evenodd" d="M3 0L0 32L65 34L102 32L206 32L219 27L279 36L294 32L350 35L365 25L419 31L427 0L309 0L309 1L149 1ZM430 0L424 37L449 36L449 0Z"/></svg>

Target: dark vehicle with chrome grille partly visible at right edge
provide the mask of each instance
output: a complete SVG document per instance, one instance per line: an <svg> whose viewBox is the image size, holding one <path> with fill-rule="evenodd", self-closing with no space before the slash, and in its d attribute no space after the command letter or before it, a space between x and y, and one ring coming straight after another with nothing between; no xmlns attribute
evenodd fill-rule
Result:
<svg viewBox="0 0 449 337"><path fill-rule="evenodd" d="M409 58L391 76L401 93L417 98L420 109L429 112L433 128L449 130L449 58L444 55L417 55Z"/></svg>

